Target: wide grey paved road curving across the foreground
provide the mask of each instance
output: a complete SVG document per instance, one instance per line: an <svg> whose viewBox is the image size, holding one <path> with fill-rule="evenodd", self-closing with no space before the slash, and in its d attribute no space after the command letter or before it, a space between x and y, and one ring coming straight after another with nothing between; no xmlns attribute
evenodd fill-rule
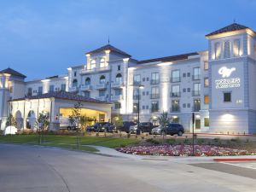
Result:
<svg viewBox="0 0 256 192"><path fill-rule="evenodd" d="M196 163L195 165L189 164ZM0 144L1 192L255 192L256 180L200 160L136 160L58 148ZM199 166L203 165L203 166ZM209 164L210 166L211 164ZM218 165L215 165L218 167ZM232 165L227 165L230 166ZM237 166L234 166L236 169Z"/></svg>

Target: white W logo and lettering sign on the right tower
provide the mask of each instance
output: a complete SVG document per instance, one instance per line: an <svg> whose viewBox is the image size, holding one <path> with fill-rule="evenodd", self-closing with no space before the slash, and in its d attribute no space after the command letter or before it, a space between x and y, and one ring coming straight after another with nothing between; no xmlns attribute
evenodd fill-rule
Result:
<svg viewBox="0 0 256 192"><path fill-rule="evenodd" d="M216 89L226 89L226 88L237 88L240 87L240 78L230 78L231 73L235 72L236 68L220 67L218 69L218 74L221 75L222 79L215 80Z"/></svg>

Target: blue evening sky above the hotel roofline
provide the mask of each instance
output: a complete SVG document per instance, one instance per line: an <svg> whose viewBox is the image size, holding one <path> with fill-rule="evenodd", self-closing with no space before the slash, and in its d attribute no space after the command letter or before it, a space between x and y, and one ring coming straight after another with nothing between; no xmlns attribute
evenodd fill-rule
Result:
<svg viewBox="0 0 256 192"><path fill-rule="evenodd" d="M108 36L137 60L206 50L205 35L234 20L256 30L255 10L253 0L0 0L0 70L64 74Z"/></svg>

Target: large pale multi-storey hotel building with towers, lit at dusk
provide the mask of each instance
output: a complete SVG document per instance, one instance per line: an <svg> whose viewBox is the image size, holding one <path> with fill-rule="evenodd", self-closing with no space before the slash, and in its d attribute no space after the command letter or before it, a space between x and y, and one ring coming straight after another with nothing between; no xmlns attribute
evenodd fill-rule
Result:
<svg viewBox="0 0 256 192"><path fill-rule="evenodd" d="M195 113L198 132L256 133L256 33L233 23L206 38L206 51L144 61L108 44L86 53L85 64L68 67L66 75L47 79L26 82L12 69L0 71L1 128L9 113L27 128L53 108L51 127L58 129L68 108L83 101L84 113L96 120L137 120L139 108L141 122L158 124L167 112L191 131Z"/></svg>

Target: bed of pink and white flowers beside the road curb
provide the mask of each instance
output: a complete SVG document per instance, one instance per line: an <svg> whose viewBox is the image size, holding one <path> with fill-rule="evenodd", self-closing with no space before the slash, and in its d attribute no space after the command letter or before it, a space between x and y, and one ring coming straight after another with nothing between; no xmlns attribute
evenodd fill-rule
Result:
<svg viewBox="0 0 256 192"><path fill-rule="evenodd" d="M157 146L135 146L118 148L119 152L125 154L143 154L156 156L190 156L192 154L191 145L157 145ZM224 148L211 145L195 145L195 156L236 156L236 155L253 155L243 149Z"/></svg>

